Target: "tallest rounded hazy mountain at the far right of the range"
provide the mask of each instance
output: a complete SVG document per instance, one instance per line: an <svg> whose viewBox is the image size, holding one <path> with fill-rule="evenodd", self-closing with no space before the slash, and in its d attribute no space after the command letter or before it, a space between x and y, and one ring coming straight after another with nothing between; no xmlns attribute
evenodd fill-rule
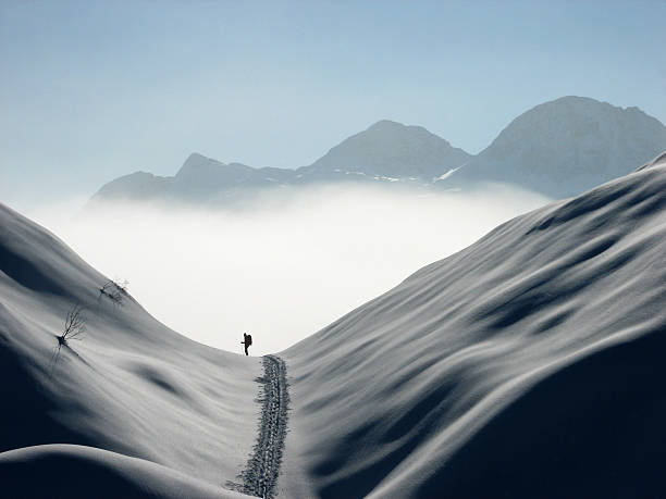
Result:
<svg viewBox="0 0 666 499"><path fill-rule="evenodd" d="M626 175L664 149L666 126L638 108L563 97L518 116L442 185L501 182L565 198Z"/></svg>

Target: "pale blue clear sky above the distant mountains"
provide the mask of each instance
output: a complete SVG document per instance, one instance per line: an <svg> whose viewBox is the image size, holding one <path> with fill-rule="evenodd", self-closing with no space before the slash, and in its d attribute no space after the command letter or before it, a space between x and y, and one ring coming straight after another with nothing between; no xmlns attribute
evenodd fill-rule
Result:
<svg viewBox="0 0 666 499"><path fill-rule="evenodd" d="M476 153L566 95L666 122L666 2L0 0L0 200L193 151L309 164L381 118Z"/></svg>

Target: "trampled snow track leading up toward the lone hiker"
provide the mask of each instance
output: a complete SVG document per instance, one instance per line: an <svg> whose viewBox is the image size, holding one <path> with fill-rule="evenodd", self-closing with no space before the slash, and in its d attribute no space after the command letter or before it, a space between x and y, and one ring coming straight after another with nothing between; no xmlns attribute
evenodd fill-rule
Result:
<svg viewBox="0 0 666 499"><path fill-rule="evenodd" d="M257 497L272 498L278 483L282 448L286 436L289 396L284 361L274 355L263 357L263 385L259 401L261 422L254 453L240 473L240 491Z"/></svg>

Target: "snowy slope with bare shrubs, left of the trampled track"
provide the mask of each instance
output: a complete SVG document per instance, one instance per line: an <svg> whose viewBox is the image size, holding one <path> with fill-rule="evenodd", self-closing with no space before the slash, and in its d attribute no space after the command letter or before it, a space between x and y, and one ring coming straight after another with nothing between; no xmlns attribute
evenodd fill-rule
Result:
<svg viewBox="0 0 666 499"><path fill-rule="evenodd" d="M21 473L62 475L53 479L64 488L53 490L64 496L205 496L210 487L222 494L255 441L260 362L180 336L128 295L110 300L100 292L106 282L54 236L0 204L3 492L37 490L35 483L27 491L7 488ZM58 353L74 303L85 309L86 333Z"/></svg>

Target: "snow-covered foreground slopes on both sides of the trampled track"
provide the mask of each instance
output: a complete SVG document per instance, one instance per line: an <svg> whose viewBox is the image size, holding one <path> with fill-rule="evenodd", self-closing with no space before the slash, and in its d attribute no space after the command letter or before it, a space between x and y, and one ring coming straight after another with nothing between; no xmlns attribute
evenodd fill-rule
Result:
<svg viewBox="0 0 666 499"><path fill-rule="evenodd" d="M663 154L282 352L278 496L664 496L665 210ZM257 437L258 359L113 304L102 275L2 205L0 271L4 491L238 496L221 485ZM75 302L86 337L57 355Z"/></svg>

